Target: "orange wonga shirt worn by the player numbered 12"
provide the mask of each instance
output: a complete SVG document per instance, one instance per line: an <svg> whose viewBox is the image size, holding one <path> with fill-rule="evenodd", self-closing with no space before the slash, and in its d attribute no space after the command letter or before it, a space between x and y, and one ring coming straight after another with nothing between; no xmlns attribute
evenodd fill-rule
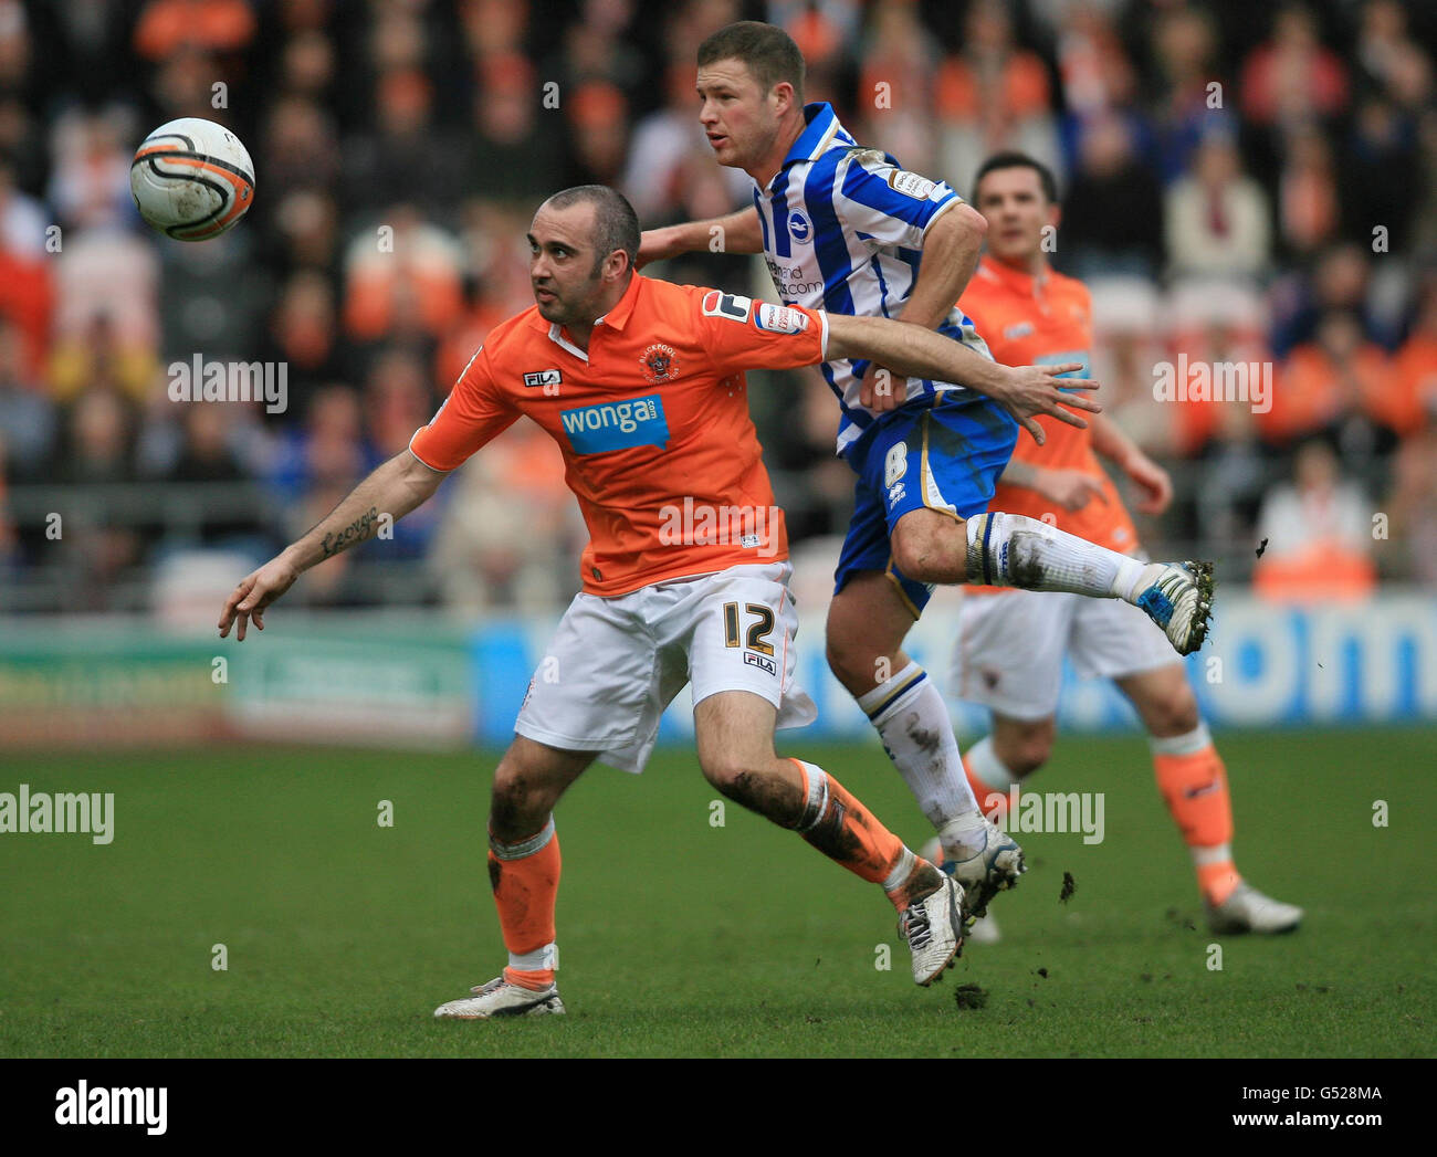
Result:
<svg viewBox="0 0 1437 1157"><path fill-rule="evenodd" d="M563 451L592 595L786 559L743 371L815 365L826 345L821 312L634 275L588 351L537 308L490 331L410 450L453 470L533 418Z"/></svg>

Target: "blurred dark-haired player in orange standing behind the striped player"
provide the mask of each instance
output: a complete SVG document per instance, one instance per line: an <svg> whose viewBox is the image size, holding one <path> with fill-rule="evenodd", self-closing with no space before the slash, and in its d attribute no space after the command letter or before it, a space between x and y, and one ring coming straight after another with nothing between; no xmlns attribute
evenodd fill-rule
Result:
<svg viewBox="0 0 1437 1157"><path fill-rule="evenodd" d="M1091 364L1088 289L1049 266L1045 239L1059 221L1052 172L1022 152L1000 152L979 170L973 204L987 220L987 253L958 302L1000 362ZM1088 377L1088 369L1078 371ZM1173 499L1163 467L1105 414L1086 428L1039 420L1004 467L996 509L1049 520L1112 550L1141 556L1132 519L1098 463L1102 456L1138 487L1138 510L1161 513ZM1079 674L1111 678L1148 733L1158 789L1193 854L1209 924L1216 933L1295 928L1302 908L1247 884L1233 864L1227 773L1184 665L1163 632L1121 602L1066 594L973 588L964 592L954 645L954 693L993 713L993 730L969 749L969 783L984 809L1002 806L1052 752L1063 655ZM992 803L989 799L993 798ZM994 940L992 920L976 940Z"/></svg>

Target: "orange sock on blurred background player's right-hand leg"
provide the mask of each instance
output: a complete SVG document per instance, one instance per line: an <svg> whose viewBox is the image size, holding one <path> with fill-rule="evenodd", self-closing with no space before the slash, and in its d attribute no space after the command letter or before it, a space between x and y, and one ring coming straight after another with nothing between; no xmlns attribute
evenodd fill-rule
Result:
<svg viewBox="0 0 1437 1157"><path fill-rule="evenodd" d="M1158 790L1193 852L1197 885L1209 903L1221 904L1242 882L1233 864L1233 801L1223 757L1206 723L1151 746Z"/></svg>

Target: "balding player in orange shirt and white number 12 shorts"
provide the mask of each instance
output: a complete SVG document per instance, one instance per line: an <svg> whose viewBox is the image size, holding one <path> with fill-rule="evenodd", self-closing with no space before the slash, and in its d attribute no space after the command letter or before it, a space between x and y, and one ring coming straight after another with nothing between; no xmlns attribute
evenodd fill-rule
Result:
<svg viewBox="0 0 1437 1157"><path fill-rule="evenodd" d="M831 323L822 313L634 276L638 218L604 185L545 201L529 246L537 308L490 333L407 448L241 579L221 612L221 637L237 621L243 641L250 617L263 630L266 608L300 573L372 538L382 515L398 520L425 503L450 471L527 415L559 444L592 539L583 591L530 680L517 734L494 773L489 868L509 966L434 1015L563 1012L552 811L595 759L641 772L660 716L690 683L708 780L882 885L912 951L914 980L931 983L963 943L961 888L917 859L822 768L773 752L775 726L809 723L815 710L793 683L787 535L743 371L859 352L915 372L961 375L966 359L993 364L891 322ZM1056 408L1055 378L1036 377ZM752 517L675 542L665 535L668 512L685 506Z"/></svg>

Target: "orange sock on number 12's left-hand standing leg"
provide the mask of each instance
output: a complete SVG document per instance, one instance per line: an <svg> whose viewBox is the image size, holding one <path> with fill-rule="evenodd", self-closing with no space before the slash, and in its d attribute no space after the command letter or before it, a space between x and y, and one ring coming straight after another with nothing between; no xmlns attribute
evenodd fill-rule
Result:
<svg viewBox="0 0 1437 1157"><path fill-rule="evenodd" d="M559 897L559 835L553 819L517 844L489 836L489 884L499 927L509 949L504 979L526 989L546 989L559 967L553 908Z"/></svg>

